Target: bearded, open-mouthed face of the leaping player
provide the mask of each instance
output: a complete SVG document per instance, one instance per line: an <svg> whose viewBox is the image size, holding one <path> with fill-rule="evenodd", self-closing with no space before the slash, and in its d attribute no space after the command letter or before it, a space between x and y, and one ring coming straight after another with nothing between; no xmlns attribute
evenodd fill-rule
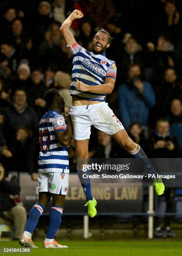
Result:
<svg viewBox="0 0 182 256"><path fill-rule="evenodd" d="M93 53L94 54L103 54L105 49L110 46L109 44L109 36L105 33L98 32L95 34L93 40Z"/></svg>

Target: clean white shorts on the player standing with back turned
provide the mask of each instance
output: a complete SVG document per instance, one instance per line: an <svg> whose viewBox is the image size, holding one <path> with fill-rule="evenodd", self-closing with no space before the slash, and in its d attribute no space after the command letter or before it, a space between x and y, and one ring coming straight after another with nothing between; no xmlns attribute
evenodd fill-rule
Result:
<svg viewBox="0 0 182 256"><path fill-rule="evenodd" d="M69 174L60 172L39 173L38 183L38 192L67 195Z"/></svg>

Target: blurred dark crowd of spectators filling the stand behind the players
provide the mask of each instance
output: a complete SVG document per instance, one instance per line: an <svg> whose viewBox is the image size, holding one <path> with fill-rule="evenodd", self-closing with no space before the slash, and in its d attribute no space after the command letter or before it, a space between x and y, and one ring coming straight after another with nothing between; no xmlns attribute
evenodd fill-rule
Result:
<svg viewBox="0 0 182 256"><path fill-rule="evenodd" d="M151 158L182 156L182 3L180 0L8 0L0 3L0 162L37 180L39 120L50 88L71 107L72 55L59 28L72 10L77 42L92 50L97 27L113 37L106 51L117 81L106 101ZM89 157L131 157L93 128ZM70 170L75 172L74 141ZM0 178L0 183L5 176ZM6 209L7 210L7 209Z"/></svg>

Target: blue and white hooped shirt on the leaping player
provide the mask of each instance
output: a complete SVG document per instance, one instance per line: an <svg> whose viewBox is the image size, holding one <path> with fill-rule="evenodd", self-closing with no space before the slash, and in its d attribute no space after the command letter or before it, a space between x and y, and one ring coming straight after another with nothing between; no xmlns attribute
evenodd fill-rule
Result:
<svg viewBox="0 0 182 256"><path fill-rule="evenodd" d="M104 54L93 54L87 51L77 42L67 45L73 54L71 96L84 100L105 101L105 94L82 92L75 89L76 79L87 85L99 85L105 83L106 77L116 79L117 68L115 61L109 60Z"/></svg>

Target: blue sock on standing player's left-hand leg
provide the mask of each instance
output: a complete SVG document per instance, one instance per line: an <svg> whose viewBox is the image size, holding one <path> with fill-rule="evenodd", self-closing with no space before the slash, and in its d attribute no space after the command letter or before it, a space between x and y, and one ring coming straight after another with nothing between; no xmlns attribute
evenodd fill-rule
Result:
<svg viewBox="0 0 182 256"><path fill-rule="evenodd" d="M29 213L27 224L25 226L25 231L33 233L33 230L37 226L38 220L42 212L45 210L45 206L36 202Z"/></svg>

